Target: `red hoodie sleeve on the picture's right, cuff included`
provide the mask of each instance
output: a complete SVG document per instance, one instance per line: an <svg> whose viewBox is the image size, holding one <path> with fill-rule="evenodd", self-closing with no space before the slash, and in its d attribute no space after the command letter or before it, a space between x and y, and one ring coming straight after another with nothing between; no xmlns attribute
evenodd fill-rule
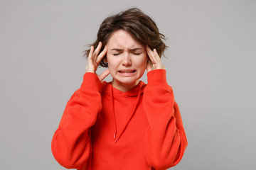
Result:
<svg viewBox="0 0 256 170"><path fill-rule="evenodd" d="M154 169L168 169L181 161L188 142L173 90L166 82L166 70L152 70L147 77L143 99L149 122L146 159Z"/></svg>

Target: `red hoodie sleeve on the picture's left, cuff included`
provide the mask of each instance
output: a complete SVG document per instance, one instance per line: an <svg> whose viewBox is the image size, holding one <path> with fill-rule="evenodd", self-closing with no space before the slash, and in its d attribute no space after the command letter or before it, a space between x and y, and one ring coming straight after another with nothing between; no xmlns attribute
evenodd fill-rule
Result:
<svg viewBox="0 0 256 170"><path fill-rule="evenodd" d="M91 153L90 127L102 109L101 82L94 73L85 73L80 89L68 101L51 144L57 162L79 169Z"/></svg>

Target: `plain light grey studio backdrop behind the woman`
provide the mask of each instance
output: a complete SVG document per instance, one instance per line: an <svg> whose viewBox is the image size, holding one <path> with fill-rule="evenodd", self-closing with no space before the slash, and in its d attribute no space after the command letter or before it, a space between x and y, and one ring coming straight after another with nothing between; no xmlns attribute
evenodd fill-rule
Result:
<svg viewBox="0 0 256 170"><path fill-rule="evenodd" d="M188 137L172 169L255 168L256 1L1 0L0 169L64 169L50 142L82 82L82 51L132 6L168 38L162 61Z"/></svg>

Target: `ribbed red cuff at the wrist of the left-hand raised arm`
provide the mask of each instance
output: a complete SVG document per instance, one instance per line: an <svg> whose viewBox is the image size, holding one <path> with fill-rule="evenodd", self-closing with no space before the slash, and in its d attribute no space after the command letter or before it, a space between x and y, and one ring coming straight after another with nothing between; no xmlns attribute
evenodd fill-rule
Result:
<svg viewBox="0 0 256 170"><path fill-rule="evenodd" d="M92 91L100 91L101 81L99 77L97 77L97 74L92 72L85 73L82 84L81 84L81 89L90 89Z"/></svg>

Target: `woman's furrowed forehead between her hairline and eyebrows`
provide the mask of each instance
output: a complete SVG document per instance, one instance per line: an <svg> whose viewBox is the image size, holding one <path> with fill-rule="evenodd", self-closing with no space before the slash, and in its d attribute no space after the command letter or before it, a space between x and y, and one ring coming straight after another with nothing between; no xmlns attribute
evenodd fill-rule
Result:
<svg viewBox="0 0 256 170"><path fill-rule="evenodd" d="M107 47L114 47L120 49L132 49L132 48L142 48L141 42L135 40L132 35L127 33L125 30L117 30L110 36L107 41Z"/></svg>

